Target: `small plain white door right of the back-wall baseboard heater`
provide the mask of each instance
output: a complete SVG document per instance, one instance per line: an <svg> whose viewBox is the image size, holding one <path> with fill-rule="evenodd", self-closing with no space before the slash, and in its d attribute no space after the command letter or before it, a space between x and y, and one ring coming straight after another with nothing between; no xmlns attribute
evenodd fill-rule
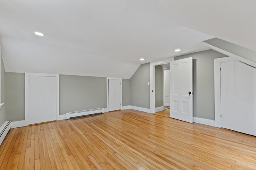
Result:
<svg viewBox="0 0 256 170"><path fill-rule="evenodd" d="M108 111L121 109L121 80L108 79Z"/></svg>

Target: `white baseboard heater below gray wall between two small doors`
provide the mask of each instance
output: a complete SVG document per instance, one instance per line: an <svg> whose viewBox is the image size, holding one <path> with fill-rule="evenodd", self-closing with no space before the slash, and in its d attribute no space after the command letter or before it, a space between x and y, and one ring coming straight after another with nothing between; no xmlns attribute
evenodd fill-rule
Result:
<svg viewBox="0 0 256 170"><path fill-rule="evenodd" d="M104 108L68 112L66 113L66 119L88 116L88 115L95 115L99 113L104 113Z"/></svg>

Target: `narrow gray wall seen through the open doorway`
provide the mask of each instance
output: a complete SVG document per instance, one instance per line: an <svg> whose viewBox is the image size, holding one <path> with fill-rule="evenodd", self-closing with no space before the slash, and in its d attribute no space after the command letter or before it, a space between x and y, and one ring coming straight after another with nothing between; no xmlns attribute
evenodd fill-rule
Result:
<svg viewBox="0 0 256 170"><path fill-rule="evenodd" d="M155 107L160 106L163 106L163 66L155 66Z"/></svg>

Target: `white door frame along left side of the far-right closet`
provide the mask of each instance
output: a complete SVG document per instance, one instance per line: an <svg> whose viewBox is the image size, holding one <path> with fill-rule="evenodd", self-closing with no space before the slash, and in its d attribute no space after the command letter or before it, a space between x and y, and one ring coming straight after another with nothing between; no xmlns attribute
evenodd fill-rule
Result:
<svg viewBox="0 0 256 170"><path fill-rule="evenodd" d="M233 57L214 59L214 108L215 127L221 127L221 91L220 91L220 63L236 61Z"/></svg>

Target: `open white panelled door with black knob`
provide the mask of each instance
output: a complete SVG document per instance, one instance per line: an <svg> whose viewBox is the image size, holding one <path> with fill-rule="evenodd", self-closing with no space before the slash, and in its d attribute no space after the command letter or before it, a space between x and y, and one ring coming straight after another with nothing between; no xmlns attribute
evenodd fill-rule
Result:
<svg viewBox="0 0 256 170"><path fill-rule="evenodd" d="M170 62L170 74L170 117L192 123L192 57Z"/></svg>

